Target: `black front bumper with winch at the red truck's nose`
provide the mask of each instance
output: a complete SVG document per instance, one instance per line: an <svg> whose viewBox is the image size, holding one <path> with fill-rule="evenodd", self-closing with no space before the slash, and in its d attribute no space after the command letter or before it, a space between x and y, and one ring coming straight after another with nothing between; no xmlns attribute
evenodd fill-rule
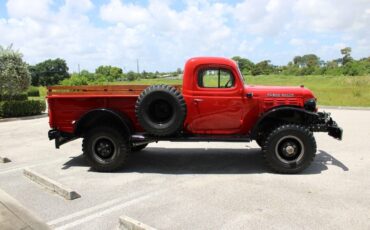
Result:
<svg viewBox="0 0 370 230"><path fill-rule="evenodd" d="M313 132L327 132L329 136L342 140L343 129L331 118L330 113L319 112L318 120L311 127Z"/></svg>

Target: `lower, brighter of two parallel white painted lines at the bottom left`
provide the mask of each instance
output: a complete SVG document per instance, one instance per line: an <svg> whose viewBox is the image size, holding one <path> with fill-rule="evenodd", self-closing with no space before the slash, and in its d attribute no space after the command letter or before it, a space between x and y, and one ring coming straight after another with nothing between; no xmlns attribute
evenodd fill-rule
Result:
<svg viewBox="0 0 370 230"><path fill-rule="evenodd" d="M125 203L122 203L122 204L119 204L119 205L116 205L116 206L110 207L110 208L108 208L108 209L105 209L104 211L94 213L94 214L92 214L92 215L90 215L90 216L86 216L86 217L84 217L84 218L78 219L78 220L73 221L73 222L71 222L71 223L68 223L68 224L62 225L62 226L60 226L60 227L57 227L57 228L55 228L55 230L64 230L64 229L73 228L73 227L75 227L75 226L78 226L78 225L80 225L80 224L83 224L83 223L86 223L86 222L88 222L88 221L94 220L94 219L96 219L96 218L100 218L100 217L102 217L102 216L104 216L104 215L107 215L107 214L109 214L109 213L111 213L111 212L118 211L118 210L120 210L120 209L123 209L123 208L125 208L125 207L130 206L130 205L133 205L133 204L135 204L135 203L141 202L141 201L143 201L143 200L145 200L145 199L148 199L148 198L150 198L150 197L152 197L152 196L155 196L155 195L158 195L158 194L160 194L160 193L163 193L164 191L167 191L167 189L164 189L164 190L162 190L162 191L157 191L157 192L154 192L154 193L150 193L150 194L147 194L147 195L144 195L144 196L141 196L141 197L138 197L138 198L132 199L132 200L127 201L127 202L125 202Z"/></svg>

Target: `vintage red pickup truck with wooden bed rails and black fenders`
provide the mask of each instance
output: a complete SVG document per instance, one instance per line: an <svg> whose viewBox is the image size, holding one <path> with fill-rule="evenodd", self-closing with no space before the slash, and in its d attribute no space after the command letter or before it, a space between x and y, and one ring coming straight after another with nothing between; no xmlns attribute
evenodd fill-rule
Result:
<svg viewBox="0 0 370 230"><path fill-rule="evenodd" d="M188 60L182 86L53 86L47 99L49 139L59 148L83 138L97 171L119 169L151 142L255 140L274 171L297 173L315 157L313 132L343 132L304 86L247 85L226 58Z"/></svg>

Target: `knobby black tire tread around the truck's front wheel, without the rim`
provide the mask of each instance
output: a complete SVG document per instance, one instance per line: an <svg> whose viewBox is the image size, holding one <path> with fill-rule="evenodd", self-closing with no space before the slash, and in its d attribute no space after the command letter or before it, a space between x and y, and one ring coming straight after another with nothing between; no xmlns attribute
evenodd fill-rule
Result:
<svg viewBox="0 0 370 230"><path fill-rule="evenodd" d="M304 134L305 137L307 138L307 140L304 142L311 142L311 146L305 146L305 155L306 154L308 155L304 156L303 162L295 169L284 168L279 165L276 165L272 161L270 161L268 157L269 154L275 154L275 152L274 153L268 152L269 144L272 141L272 139L276 135L278 135L280 132L288 131L288 130L302 132L302 134ZM316 145L315 137L313 136L313 133L308 128L302 125L284 124L284 125L280 125L277 128L275 128L267 136L263 144L263 147L262 147L262 152L263 152L263 158L265 162L274 172L283 173L283 174L294 174L294 173L301 172L302 170L306 169L311 164L311 162L314 160L316 156L316 149L317 149L317 145ZM311 150L311 151L307 151L307 150Z"/></svg>

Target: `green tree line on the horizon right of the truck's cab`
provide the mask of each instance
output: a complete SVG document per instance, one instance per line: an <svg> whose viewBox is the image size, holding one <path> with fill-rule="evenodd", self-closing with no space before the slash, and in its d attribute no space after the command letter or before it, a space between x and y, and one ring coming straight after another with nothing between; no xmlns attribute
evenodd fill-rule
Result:
<svg viewBox="0 0 370 230"><path fill-rule="evenodd" d="M243 75L368 75L370 74L370 57L355 60L351 56L352 49L346 47L340 50L342 57L331 61L323 61L315 54L295 56L287 65L276 66L270 60L253 63L247 58L235 56L232 59L238 63Z"/></svg>

